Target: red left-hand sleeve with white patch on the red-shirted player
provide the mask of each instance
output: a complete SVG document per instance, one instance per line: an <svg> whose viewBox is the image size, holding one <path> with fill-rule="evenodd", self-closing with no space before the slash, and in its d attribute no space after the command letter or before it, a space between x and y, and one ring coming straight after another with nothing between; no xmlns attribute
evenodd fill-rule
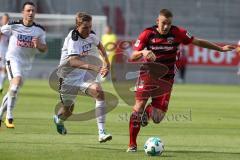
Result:
<svg viewBox="0 0 240 160"><path fill-rule="evenodd" d="M137 41L135 42L134 46L133 46L133 50L135 51L140 51L143 50L147 43L148 43L148 39L149 39L149 31L148 30L144 30L139 36Z"/></svg>

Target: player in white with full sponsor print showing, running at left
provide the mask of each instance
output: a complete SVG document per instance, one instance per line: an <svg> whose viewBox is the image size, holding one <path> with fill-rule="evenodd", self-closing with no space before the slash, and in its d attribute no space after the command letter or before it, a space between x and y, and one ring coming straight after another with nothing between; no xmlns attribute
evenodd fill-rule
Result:
<svg viewBox="0 0 240 160"><path fill-rule="evenodd" d="M36 51L45 52L47 50L46 32L42 26L34 22L35 13L35 4L25 2L22 7L23 19L2 26L0 32L1 35L9 36L6 69L10 86L7 94L3 97L0 108L0 121L3 112L7 108L5 121L7 128L14 128L13 108L16 103L17 93L23 84L24 77L31 69Z"/></svg>

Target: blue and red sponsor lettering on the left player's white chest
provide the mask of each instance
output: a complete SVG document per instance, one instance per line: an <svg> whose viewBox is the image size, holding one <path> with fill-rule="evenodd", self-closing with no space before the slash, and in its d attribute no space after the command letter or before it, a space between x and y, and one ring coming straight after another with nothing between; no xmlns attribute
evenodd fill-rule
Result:
<svg viewBox="0 0 240 160"><path fill-rule="evenodd" d="M34 48L34 44L32 42L33 37L18 34L17 36L17 46L24 47L24 48Z"/></svg>

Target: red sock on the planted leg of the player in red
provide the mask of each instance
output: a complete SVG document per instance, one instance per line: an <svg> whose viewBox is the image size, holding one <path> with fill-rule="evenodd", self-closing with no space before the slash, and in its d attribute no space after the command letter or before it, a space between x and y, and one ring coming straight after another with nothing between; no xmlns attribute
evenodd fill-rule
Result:
<svg viewBox="0 0 240 160"><path fill-rule="evenodd" d="M129 122L129 147L137 146L137 135L140 131L140 126L140 115L138 112L133 111Z"/></svg>

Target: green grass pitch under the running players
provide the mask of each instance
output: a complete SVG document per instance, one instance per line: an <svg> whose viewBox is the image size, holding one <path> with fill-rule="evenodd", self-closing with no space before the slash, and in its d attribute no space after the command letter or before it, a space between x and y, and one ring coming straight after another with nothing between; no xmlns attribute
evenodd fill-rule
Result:
<svg viewBox="0 0 240 160"><path fill-rule="evenodd" d="M109 83L104 88L112 91ZM2 96L1 96L2 97ZM58 94L47 81L29 80L22 88L14 112L15 129L0 129L0 160L239 160L240 87L175 85L167 118L150 123L138 137L139 151L126 153L131 106L119 100L107 115L109 143L97 142L95 120L66 122L69 134L58 135L53 125ZM131 98L131 97L129 97ZM75 113L93 108L93 101L79 97ZM161 157L148 157L143 145L150 136L165 143Z"/></svg>

